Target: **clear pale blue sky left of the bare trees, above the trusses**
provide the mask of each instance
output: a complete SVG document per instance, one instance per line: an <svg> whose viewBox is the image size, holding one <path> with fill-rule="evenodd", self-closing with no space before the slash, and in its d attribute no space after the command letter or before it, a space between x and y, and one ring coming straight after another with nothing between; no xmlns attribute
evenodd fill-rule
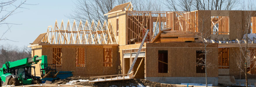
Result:
<svg viewBox="0 0 256 87"><path fill-rule="evenodd" d="M67 23L68 18L65 15L72 13L74 1L72 0L27 0L28 4L22 7L28 9L17 9L6 23L16 23L21 25L12 25L11 32L8 31L3 37L17 41L0 41L1 44L12 44L16 46L28 46L39 34L47 32L47 26L54 25L56 19L58 23L61 20ZM1 14L3 15L3 14ZM60 25L60 24L59 24ZM0 35L8 29L6 25L0 26Z"/></svg>

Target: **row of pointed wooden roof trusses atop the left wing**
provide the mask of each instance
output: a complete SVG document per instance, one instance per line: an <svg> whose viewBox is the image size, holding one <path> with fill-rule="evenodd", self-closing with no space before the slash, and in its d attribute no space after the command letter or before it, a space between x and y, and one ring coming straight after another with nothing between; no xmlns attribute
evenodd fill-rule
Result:
<svg viewBox="0 0 256 87"><path fill-rule="evenodd" d="M94 21L89 24L86 20L86 23L83 24L80 20L79 26L77 26L74 20L71 27L68 20L66 27L63 21L61 21L61 26L59 27L56 20L54 27L48 26L45 36L38 38L40 38L41 43L45 42L47 44L118 44L113 31L111 21L109 24L104 21L102 26L100 21L97 24ZM36 40L38 41L38 39Z"/></svg>

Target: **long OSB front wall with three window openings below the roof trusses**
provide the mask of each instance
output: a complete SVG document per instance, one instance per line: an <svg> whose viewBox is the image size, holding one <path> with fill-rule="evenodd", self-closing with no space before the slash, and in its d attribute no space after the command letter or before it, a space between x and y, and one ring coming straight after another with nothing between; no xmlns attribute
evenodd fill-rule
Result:
<svg viewBox="0 0 256 87"><path fill-rule="evenodd" d="M112 48L112 67L103 67L104 47ZM42 46L42 55L47 55L48 64L52 64L53 48L62 48L62 66L56 67L57 71L75 71L74 76L113 75L120 72L118 46ZM76 48L85 48L85 67L76 67Z"/></svg>

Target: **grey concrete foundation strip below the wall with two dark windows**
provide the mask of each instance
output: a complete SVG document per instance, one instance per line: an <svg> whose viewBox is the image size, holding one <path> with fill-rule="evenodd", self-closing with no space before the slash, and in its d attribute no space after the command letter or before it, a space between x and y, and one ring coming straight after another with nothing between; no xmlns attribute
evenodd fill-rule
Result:
<svg viewBox="0 0 256 87"><path fill-rule="evenodd" d="M205 77L146 77L149 81L165 84L197 83L205 84ZM218 86L218 77L207 77L207 84Z"/></svg>

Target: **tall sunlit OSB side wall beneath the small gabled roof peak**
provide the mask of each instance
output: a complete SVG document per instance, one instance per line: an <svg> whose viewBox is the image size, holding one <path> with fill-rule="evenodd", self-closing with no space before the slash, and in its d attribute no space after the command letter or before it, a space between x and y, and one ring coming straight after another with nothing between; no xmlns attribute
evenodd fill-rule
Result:
<svg viewBox="0 0 256 87"><path fill-rule="evenodd" d="M128 44L128 29L127 29L127 16L126 16L127 12L123 11L123 12L118 12L115 14L110 14L108 15L108 21L111 21L114 31L116 33L116 25L117 25L117 21L116 19L118 19L119 23L118 23L118 44L119 45L126 45Z"/></svg>

